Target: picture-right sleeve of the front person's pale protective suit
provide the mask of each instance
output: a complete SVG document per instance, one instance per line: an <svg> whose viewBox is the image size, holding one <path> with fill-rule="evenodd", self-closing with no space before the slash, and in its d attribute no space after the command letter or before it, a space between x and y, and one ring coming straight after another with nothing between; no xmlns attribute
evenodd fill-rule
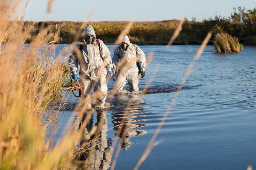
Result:
<svg viewBox="0 0 256 170"><path fill-rule="evenodd" d="M108 71L111 71L111 69L113 68L113 65L110 57L110 52L108 50L108 47L104 44L104 42L101 40L99 41L100 41L100 57L106 64Z"/></svg>

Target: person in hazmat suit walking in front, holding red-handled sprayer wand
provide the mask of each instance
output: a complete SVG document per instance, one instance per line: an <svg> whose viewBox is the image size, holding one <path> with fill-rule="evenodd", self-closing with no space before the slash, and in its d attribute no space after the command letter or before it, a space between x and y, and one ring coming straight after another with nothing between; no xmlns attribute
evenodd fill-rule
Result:
<svg viewBox="0 0 256 170"><path fill-rule="evenodd" d="M106 75L112 77L112 60L108 47L100 39L96 39L96 34L92 25L87 25L84 29L83 41L77 44L73 54L69 57L68 64L72 78L82 87L82 101L84 97L88 100L88 109L91 109L92 90L95 92L96 104L103 105L107 98ZM77 75L78 64L80 65L79 77ZM107 68L107 70L106 70Z"/></svg>

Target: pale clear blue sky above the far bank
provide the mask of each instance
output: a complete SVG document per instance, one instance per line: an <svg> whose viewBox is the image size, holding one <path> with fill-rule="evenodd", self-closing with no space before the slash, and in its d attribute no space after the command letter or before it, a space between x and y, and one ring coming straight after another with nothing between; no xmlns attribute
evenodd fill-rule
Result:
<svg viewBox="0 0 256 170"><path fill-rule="evenodd" d="M233 7L254 9L256 0L54 0L52 13L46 15L48 0L32 0L26 21L162 21L197 20L215 15L230 16ZM25 3L24 3L25 4Z"/></svg>

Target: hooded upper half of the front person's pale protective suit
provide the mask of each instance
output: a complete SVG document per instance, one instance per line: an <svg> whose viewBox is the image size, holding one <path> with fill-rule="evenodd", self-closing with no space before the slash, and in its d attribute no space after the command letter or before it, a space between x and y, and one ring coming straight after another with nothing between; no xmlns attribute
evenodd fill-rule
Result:
<svg viewBox="0 0 256 170"><path fill-rule="evenodd" d="M87 25L84 29L84 38L86 35L93 35L95 37L94 42L86 44L84 40L82 55L80 46L77 44L73 51L73 57L71 55L69 58L69 67L72 74L77 74L79 63L79 78L95 80L100 75L107 73L106 67L108 71L111 71L113 66L108 47L100 39L98 39L100 45L98 44L92 25Z"/></svg>

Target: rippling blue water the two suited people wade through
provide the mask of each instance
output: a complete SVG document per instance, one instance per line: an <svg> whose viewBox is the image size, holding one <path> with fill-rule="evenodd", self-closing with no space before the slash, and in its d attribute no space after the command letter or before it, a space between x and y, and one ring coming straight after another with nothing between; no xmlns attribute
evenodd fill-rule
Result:
<svg viewBox="0 0 256 170"><path fill-rule="evenodd" d="M60 45L58 49L61 49ZM115 46L108 46L114 50ZM141 79L143 89L158 62L161 63L147 94L120 94L103 116L93 115L90 126L100 127L101 141L94 165L107 167L114 159L107 138L114 138L124 119L124 110L132 97L125 119L129 126L116 169L133 169L161 121L175 90L199 46L140 46L153 60ZM246 169L256 167L256 47L244 46L242 53L217 54L206 46L167 117L156 145L140 169ZM57 50L58 52L58 50ZM114 81L108 82L112 89ZM129 89L128 83L125 87ZM73 96L70 97L70 100ZM75 105L80 99L71 103ZM106 114L106 117L104 116ZM59 137L71 110L60 113L56 136ZM86 130L90 130L87 126ZM110 130L109 130L110 129ZM107 131L108 130L108 131ZM121 134L122 135L122 134ZM120 141L120 139L118 140ZM112 141L113 143L113 141ZM92 151L91 151L92 152ZM114 152L115 154L115 152Z"/></svg>

